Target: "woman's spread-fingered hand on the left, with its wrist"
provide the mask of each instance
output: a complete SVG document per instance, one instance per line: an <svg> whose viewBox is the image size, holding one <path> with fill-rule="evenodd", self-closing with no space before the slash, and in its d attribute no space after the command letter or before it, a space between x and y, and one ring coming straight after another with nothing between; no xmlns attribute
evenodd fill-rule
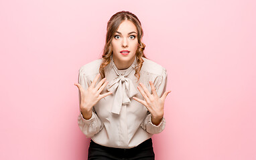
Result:
<svg viewBox="0 0 256 160"><path fill-rule="evenodd" d="M92 107L96 105L96 103L108 95L111 95L112 92L107 92L101 95L101 91L106 87L108 81L105 81L106 78L101 79L101 81L95 87L96 82L98 81L101 74L98 74L94 80L92 81L91 85L85 91L79 83L74 83L80 91L81 95L81 103L80 109L82 112L82 116L84 119L90 119L92 117Z"/></svg>

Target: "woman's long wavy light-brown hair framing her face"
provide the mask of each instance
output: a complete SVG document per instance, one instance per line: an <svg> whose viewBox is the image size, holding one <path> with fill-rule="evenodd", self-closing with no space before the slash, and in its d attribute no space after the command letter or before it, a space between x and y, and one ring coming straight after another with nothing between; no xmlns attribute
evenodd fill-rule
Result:
<svg viewBox="0 0 256 160"><path fill-rule="evenodd" d="M137 80L139 81L139 77L140 77L139 71L141 71L141 67L143 64L143 59L141 57L145 57L145 55L143 53L143 51L145 49L145 44L141 42L141 39L143 37L143 29L141 27L141 22L139 21L137 16L129 11L119 11L119 12L115 13L115 15L113 15L107 23L106 43L105 43L105 47L104 47L104 51L103 51L103 55L102 55L103 61L99 68L99 73L101 73L102 78L105 77L104 68L111 62L111 55L113 54L111 41L112 41L114 34L117 31L119 25L125 20L129 20L129 21L133 22L133 24L136 26L137 31L138 31L137 39L138 39L139 45L138 45L136 53L135 53L136 58L137 58L137 65L135 67L134 75L137 77Z"/></svg>

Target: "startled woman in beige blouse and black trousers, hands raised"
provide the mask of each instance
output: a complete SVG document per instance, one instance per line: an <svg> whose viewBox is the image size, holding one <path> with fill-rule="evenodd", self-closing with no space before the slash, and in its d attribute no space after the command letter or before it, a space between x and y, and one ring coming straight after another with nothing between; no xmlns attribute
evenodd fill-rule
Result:
<svg viewBox="0 0 256 160"><path fill-rule="evenodd" d="M143 54L142 37L133 13L115 13L102 58L79 69L78 125L91 138L88 159L155 158L151 136L166 125L170 91L166 69Z"/></svg>

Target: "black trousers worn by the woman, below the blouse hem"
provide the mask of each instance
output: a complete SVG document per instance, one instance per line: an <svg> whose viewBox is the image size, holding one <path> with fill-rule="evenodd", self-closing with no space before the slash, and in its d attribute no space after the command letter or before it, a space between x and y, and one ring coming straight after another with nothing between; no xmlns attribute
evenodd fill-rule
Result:
<svg viewBox="0 0 256 160"><path fill-rule="evenodd" d="M88 149L88 160L154 160L152 139L147 139L143 143L131 149L120 149L105 147L90 140Z"/></svg>

